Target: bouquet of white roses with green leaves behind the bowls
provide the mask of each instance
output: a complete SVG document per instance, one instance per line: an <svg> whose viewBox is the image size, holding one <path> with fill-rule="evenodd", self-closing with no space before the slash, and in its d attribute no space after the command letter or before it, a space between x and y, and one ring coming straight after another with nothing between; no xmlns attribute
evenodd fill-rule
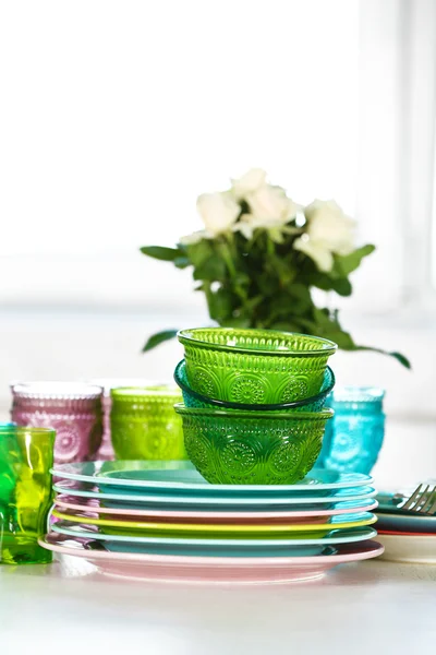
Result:
<svg viewBox="0 0 436 655"><path fill-rule="evenodd" d="M313 289L350 296L351 273L375 250L355 246L355 222L335 201L302 206L255 168L226 191L199 195L197 210L203 230L182 237L175 248L141 250L179 269L191 266L210 319L225 326L315 334L344 350L386 353L356 344L338 310L314 301ZM144 352L175 333L150 336ZM403 355L386 354L410 368Z"/></svg>

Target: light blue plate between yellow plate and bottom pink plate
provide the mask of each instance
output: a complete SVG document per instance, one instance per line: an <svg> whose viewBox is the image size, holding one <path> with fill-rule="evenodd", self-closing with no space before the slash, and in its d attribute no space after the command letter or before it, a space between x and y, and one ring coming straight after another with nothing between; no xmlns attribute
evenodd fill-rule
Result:
<svg viewBox="0 0 436 655"><path fill-rule="evenodd" d="M73 525L74 527L70 527ZM123 552L149 552L167 555L198 555L218 557L287 557L302 555L302 546L320 552L326 546L351 544L371 539L376 535L373 527L331 529L324 537L313 539L199 539L174 537L129 537L98 533L86 526L77 527L68 521L58 521L51 531L76 539L105 541L108 550ZM304 549L304 555L307 555Z"/></svg>

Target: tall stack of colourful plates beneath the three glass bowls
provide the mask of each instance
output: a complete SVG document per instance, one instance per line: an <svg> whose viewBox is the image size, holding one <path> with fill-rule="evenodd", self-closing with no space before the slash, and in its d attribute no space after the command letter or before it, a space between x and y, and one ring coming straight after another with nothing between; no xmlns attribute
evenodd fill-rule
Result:
<svg viewBox="0 0 436 655"><path fill-rule="evenodd" d="M383 552L372 478L312 471L296 485L210 485L189 462L58 465L41 545L147 580L292 582Z"/></svg>

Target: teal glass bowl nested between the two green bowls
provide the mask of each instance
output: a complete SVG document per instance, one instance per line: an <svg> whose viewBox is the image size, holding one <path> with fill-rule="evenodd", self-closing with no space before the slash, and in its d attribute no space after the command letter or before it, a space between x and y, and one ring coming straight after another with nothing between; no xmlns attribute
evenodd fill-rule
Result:
<svg viewBox="0 0 436 655"><path fill-rule="evenodd" d="M193 391L187 384L186 364L184 359L179 361L174 369L174 380L182 390L183 402L186 407L206 407L209 409L245 409L250 412L319 412L325 405L325 401L335 386L335 373L328 366L324 374L324 381L320 392L316 396L311 396L304 401L293 403L281 403L278 405L246 405L244 403L230 403L208 398L196 391Z"/></svg>

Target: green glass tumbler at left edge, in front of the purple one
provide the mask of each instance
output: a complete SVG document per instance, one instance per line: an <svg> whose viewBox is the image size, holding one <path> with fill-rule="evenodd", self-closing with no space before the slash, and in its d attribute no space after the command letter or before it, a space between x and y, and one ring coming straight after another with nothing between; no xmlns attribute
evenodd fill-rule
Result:
<svg viewBox="0 0 436 655"><path fill-rule="evenodd" d="M0 427L0 564L45 564L56 431Z"/></svg>

